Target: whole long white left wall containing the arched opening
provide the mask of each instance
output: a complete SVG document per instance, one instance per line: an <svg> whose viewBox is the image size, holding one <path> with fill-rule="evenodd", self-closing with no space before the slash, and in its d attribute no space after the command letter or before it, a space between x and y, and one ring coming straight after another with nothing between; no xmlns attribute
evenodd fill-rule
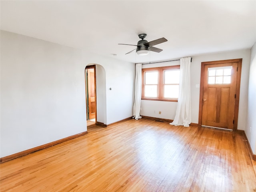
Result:
<svg viewBox="0 0 256 192"><path fill-rule="evenodd" d="M96 64L98 120L132 116L135 64L6 31L0 61L0 157L87 130L88 64Z"/></svg>

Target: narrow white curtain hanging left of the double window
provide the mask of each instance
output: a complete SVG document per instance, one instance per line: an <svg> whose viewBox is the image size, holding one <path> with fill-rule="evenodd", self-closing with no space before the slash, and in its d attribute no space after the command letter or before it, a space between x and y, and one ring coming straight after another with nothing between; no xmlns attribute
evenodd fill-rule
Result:
<svg viewBox="0 0 256 192"><path fill-rule="evenodd" d="M136 77L135 77L135 97L133 105L133 118L140 119L140 102L141 102L141 68L142 64L136 64Z"/></svg>

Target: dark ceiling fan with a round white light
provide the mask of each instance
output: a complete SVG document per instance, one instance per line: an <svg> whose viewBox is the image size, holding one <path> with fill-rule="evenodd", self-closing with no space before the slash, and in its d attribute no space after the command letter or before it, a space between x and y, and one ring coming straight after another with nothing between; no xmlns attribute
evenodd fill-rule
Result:
<svg viewBox="0 0 256 192"><path fill-rule="evenodd" d="M137 46L136 49L136 53L138 55L147 55L149 54L150 51L154 51L154 52L161 52L162 49L159 49L159 48L156 48L156 47L153 47L154 45L157 45L157 44L160 44L160 43L163 43L163 42L166 42L167 39L166 38L160 38L160 39L156 39L156 40L153 40L153 41L150 41L148 42L147 40L145 40L147 34L139 34L139 38L141 40L138 41L138 44L137 45L132 45L132 46ZM118 44L118 45L131 45L131 44ZM129 54L131 52L133 52L134 50L131 50L130 52L126 53L126 54Z"/></svg>

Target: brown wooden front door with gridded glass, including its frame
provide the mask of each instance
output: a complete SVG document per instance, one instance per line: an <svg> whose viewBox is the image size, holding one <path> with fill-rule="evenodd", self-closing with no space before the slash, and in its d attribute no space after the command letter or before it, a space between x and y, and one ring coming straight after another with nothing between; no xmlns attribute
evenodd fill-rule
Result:
<svg viewBox="0 0 256 192"><path fill-rule="evenodd" d="M242 59L202 63L201 126L237 129L241 64Z"/></svg>

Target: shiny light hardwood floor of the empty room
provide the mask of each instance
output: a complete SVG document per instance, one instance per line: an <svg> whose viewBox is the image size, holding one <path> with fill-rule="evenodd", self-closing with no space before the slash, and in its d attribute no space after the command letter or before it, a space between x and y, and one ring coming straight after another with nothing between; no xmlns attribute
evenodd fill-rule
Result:
<svg viewBox="0 0 256 192"><path fill-rule="evenodd" d="M255 192L242 134L127 120L0 164L1 192Z"/></svg>

